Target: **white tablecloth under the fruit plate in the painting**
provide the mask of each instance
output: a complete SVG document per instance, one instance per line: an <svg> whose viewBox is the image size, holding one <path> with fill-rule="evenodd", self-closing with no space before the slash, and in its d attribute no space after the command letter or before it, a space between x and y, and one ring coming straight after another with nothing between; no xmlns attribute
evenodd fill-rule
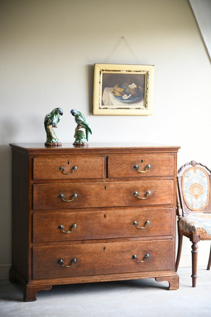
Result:
<svg viewBox="0 0 211 317"><path fill-rule="evenodd" d="M105 107L108 108L144 108L144 99L133 102L124 102L115 98L111 93L111 89L114 87L105 87L102 94L102 101Z"/></svg>

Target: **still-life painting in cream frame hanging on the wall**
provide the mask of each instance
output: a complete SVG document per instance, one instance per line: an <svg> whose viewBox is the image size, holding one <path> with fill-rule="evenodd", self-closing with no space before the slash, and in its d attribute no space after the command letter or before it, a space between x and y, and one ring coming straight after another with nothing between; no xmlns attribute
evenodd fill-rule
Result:
<svg viewBox="0 0 211 317"><path fill-rule="evenodd" d="M152 114L154 65L94 64L93 114Z"/></svg>

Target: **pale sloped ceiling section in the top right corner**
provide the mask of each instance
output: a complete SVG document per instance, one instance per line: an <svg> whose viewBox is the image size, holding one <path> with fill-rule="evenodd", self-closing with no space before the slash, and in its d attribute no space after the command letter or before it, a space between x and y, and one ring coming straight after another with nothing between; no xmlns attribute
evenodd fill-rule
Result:
<svg viewBox="0 0 211 317"><path fill-rule="evenodd" d="M189 0L211 60L211 0Z"/></svg>

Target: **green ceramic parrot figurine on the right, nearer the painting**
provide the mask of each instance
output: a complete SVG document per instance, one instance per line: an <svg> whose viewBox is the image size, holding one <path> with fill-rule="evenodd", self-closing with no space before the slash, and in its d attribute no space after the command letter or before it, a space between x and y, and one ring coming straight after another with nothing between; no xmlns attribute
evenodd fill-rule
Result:
<svg viewBox="0 0 211 317"><path fill-rule="evenodd" d="M83 113L81 113L77 109L72 109L71 114L75 117L75 122L77 123L77 127L75 129L75 135L74 137L75 142L73 144L88 144L89 140L89 133L92 134L91 127L89 125L89 122L87 121L86 117ZM78 131L80 128L84 128L86 132L86 137L84 136L84 133L82 135L83 131Z"/></svg>

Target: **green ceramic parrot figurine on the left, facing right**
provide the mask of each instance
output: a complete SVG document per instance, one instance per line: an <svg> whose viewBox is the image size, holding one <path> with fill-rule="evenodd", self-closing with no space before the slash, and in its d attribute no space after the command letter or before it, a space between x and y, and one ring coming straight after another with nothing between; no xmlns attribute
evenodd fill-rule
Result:
<svg viewBox="0 0 211 317"><path fill-rule="evenodd" d="M55 108L45 116L44 126L47 134L45 145L62 145L52 128L57 128L57 123L63 115L61 108Z"/></svg>

